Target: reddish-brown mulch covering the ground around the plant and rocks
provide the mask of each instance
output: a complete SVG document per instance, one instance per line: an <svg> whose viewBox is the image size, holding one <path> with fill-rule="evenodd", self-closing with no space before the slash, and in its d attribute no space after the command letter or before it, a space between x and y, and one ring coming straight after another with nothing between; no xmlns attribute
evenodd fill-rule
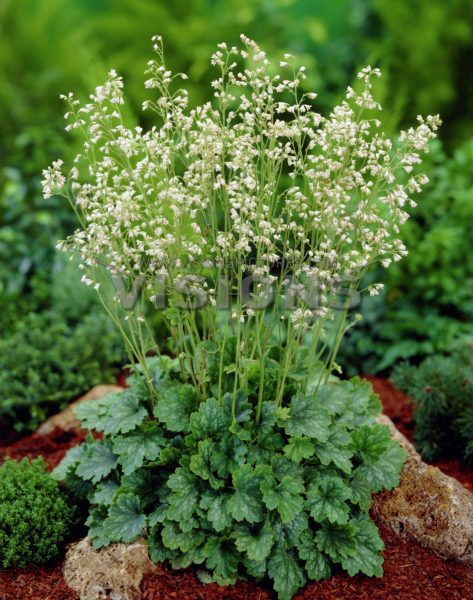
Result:
<svg viewBox="0 0 473 600"><path fill-rule="evenodd" d="M412 439L412 406L409 398L388 381L368 378L380 394L385 413L399 430ZM37 434L7 446L0 431L0 462L5 456L44 456L53 468L68 448L83 441L85 434L54 430L46 436ZM2 442L2 439L4 440ZM3 447L2 447L3 446ZM473 491L473 472L456 460L436 463L445 473L456 477ZM439 558L415 543L400 540L380 527L384 540L384 577L349 577L340 573L320 583L306 585L295 600L471 600L473 569ZM240 582L233 587L203 585L193 568L172 571L160 565L142 583L142 600L272 600L267 586ZM0 571L0 600L78 600L61 574L61 565L16 571Z"/></svg>

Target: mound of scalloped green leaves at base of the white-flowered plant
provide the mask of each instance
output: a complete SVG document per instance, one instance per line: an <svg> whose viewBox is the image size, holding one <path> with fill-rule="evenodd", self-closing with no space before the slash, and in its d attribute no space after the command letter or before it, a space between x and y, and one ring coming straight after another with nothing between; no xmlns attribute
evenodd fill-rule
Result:
<svg viewBox="0 0 473 600"><path fill-rule="evenodd" d="M375 421L379 400L359 379L303 392L289 376L286 406L264 400L258 421L260 369L236 402L199 401L177 359L154 358L153 414L139 370L123 393L77 408L104 438L70 450L55 476L90 502L96 548L146 534L154 561L201 565L221 585L269 576L281 600L335 565L381 576L368 510L373 492L398 484L404 451Z"/></svg>

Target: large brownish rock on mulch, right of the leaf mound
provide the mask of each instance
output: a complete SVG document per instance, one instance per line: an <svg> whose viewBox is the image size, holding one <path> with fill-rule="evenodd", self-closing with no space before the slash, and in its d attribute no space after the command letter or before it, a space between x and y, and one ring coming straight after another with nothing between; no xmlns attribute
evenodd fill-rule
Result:
<svg viewBox="0 0 473 600"><path fill-rule="evenodd" d="M399 487L374 498L377 520L439 556L473 566L473 494L424 463L388 417L382 415L379 422L390 427L408 457Z"/></svg>

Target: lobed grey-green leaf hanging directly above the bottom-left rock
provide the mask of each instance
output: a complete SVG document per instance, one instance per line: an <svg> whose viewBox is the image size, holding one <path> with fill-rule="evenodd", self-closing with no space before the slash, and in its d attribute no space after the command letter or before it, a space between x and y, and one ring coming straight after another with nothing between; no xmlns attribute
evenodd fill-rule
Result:
<svg viewBox="0 0 473 600"><path fill-rule="evenodd" d="M141 502L134 494L120 494L110 507L104 529L116 542L129 544L142 535L146 516Z"/></svg>

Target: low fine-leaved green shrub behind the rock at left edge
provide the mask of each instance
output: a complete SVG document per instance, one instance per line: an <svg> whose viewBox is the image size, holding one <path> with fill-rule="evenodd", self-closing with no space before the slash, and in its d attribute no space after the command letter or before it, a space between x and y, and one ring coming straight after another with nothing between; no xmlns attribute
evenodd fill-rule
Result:
<svg viewBox="0 0 473 600"><path fill-rule="evenodd" d="M125 353L113 323L97 311L76 326L57 312L30 313L0 339L0 417L34 430L90 387L112 381Z"/></svg>

